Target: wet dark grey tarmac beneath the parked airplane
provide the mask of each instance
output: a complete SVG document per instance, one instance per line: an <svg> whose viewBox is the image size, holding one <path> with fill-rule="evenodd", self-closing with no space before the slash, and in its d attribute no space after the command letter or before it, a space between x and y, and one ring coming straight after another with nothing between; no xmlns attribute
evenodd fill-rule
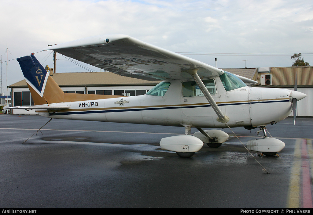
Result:
<svg viewBox="0 0 313 215"><path fill-rule="evenodd" d="M183 127L53 119L33 135L48 121L0 115L0 208L307 207L296 162L311 165L313 118L267 127L286 145L279 157L252 156L223 129L226 143L205 145L192 158L159 146ZM257 129L233 131L244 145L257 138ZM305 158L297 154L304 145Z"/></svg>

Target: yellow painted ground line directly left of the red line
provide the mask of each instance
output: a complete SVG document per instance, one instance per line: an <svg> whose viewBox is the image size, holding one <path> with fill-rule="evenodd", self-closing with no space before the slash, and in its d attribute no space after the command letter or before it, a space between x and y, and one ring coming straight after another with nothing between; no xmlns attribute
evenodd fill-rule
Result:
<svg viewBox="0 0 313 215"><path fill-rule="evenodd" d="M296 140L294 152L295 160L291 169L287 195L287 208L300 208L301 144L301 139Z"/></svg>

